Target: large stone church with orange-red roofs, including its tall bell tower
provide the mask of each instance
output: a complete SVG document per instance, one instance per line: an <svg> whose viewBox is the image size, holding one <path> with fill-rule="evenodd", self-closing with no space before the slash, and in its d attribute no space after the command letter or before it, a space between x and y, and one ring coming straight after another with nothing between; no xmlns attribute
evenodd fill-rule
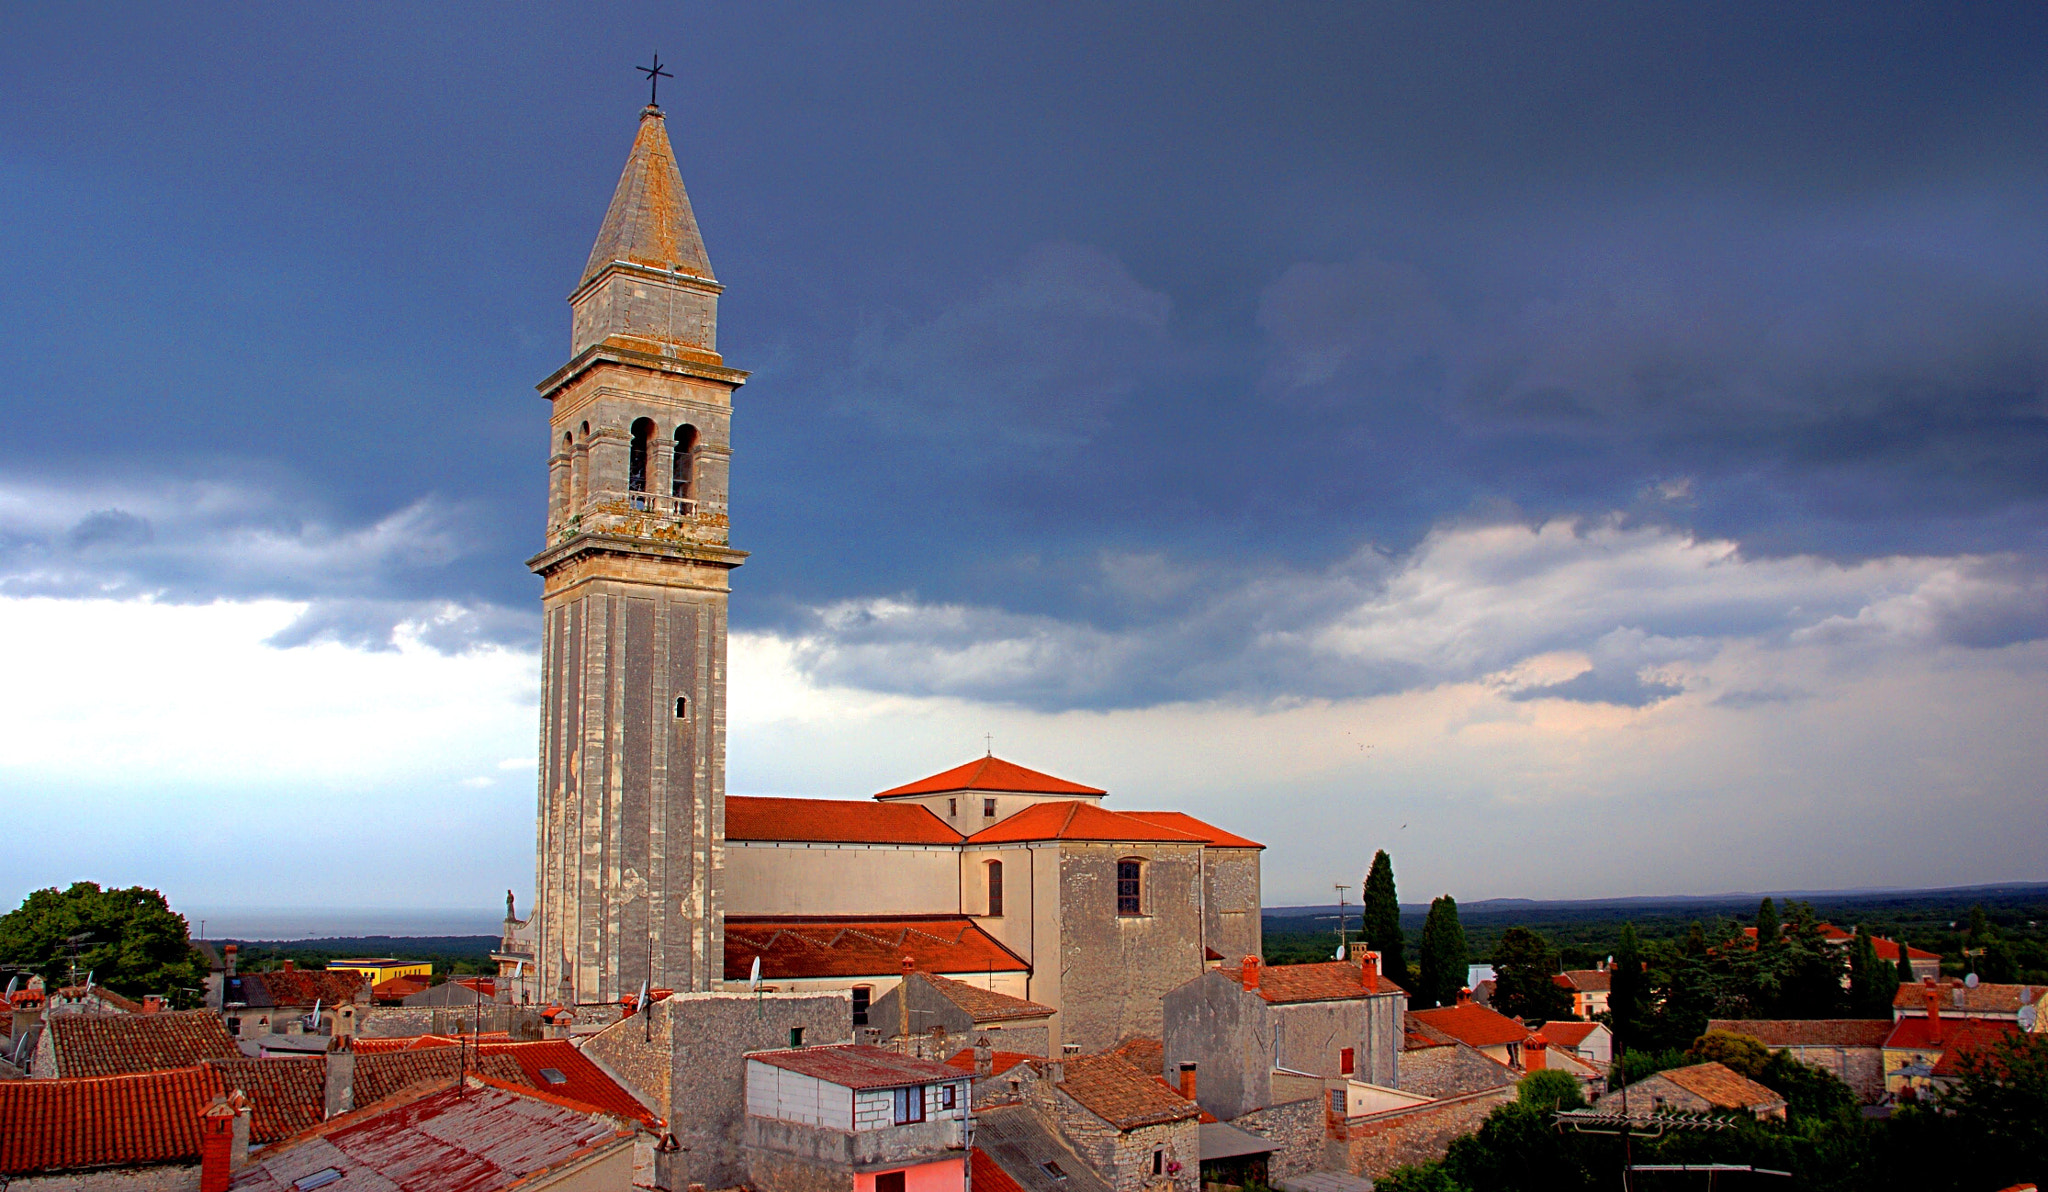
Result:
<svg viewBox="0 0 2048 1192"><path fill-rule="evenodd" d="M721 291L649 104L569 295L569 363L539 385L535 909L508 916L504 969L561 1004L743 989L758 971L852 991L856 1028L915 969L1051 1010L1055 1055L1159 1036L1165 991L1260 954L1260 844L995 756L870 801L727 799L748 375L717 350Z"/></svg>

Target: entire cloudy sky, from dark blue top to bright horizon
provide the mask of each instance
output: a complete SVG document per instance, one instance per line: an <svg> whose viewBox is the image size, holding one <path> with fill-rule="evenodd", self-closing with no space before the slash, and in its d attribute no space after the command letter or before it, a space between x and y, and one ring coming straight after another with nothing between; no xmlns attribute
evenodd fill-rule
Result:
<svg viewBox="0 0 2048 1192"><path fill-rule="evenodd" d="M754 371L733 793L993 733L1262 836L1270 901L1374 848L1409 897L2048 877L2044 47L2038 6L16 16L0 791L45 829L0 872L524 901L532 385L659 51Z"/></svg>

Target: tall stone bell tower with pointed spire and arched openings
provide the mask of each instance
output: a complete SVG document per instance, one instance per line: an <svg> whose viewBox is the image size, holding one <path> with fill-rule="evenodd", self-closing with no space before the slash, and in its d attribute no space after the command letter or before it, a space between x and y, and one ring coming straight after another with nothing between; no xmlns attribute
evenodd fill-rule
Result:
<svg viewBox="0 0 2048 1192"><path fill-rule="evenodd" d="M662 109L584 279L549 426L539 995L711 989L725 967L725 598L733 391L719 291Z"/></svg>

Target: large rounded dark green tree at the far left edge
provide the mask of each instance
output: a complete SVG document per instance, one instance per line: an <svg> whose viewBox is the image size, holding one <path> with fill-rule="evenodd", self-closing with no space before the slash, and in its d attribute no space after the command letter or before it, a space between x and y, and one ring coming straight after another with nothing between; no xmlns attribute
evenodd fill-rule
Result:
<svg viewBox="0 0 2048 1192"><path fill-rule="evenodd" d="M154 889L39 889L0 916L0 965L39 973L51 987L78 977L141 997L162 993L172 1006L201 1004L203 969L184 916Z"/></svg>

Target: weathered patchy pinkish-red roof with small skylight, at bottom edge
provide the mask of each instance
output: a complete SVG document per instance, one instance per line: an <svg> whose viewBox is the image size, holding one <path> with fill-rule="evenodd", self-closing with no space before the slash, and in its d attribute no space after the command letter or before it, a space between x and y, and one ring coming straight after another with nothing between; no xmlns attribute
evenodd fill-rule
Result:
<svg viewBox="0 0 2048 1192"><path fill-rule="evenodd" d="M623 1147L631 1131L545 1094L494 1081L408 1096L330 1118L250 1155L238 1192L291 1192L295 1182L334 1167L328 1192L498 1192Z"/></svg>

